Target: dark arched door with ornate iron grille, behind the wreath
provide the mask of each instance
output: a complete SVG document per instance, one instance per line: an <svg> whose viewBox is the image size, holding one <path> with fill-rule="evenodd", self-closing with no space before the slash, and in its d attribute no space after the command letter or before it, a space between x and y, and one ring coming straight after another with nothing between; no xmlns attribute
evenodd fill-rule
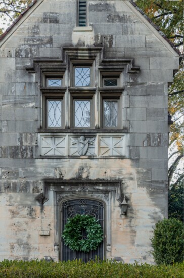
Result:
<svg viewBox="0 0 184 278"><path fill-rule="evenodd" d="M84 214L94 216L99 220L101 227L105 233L104 229L104 204L98 200L91 199L75 199L68 200L62 204L62 232L68 218L74 217L76 214ZM83 237L86 237L85 230L83 231ZM104 242L102 242L95 251L90 251L89 253L72 251L68 246L64 244L64 240L61 238L61 254L62 260L75 260L82 259L84 262L94 260L97 256L103 260L104 254Z"/></svg>

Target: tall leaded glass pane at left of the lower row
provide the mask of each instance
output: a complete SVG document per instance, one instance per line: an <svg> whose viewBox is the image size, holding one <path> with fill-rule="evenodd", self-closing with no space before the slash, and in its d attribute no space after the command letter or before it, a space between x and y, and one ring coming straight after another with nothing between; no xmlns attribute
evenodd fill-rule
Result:
<svg viewBox="0 0 184 278"><path fill-rule="evenodd" d="M62 101L48 100L48 127L62 126Z"/></svg>

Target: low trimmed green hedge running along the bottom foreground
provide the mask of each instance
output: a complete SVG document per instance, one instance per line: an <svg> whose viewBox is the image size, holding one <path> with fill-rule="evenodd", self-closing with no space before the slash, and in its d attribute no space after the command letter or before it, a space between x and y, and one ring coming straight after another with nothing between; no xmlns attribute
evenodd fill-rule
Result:
<svg viewBox="0 0 184 278"><path fill-rule="evenodd" d="M175 265L122 264L112 261L46 262L8 261L0 263L0 277L19 278L181 278L184 277L184 263Z"/></svg>

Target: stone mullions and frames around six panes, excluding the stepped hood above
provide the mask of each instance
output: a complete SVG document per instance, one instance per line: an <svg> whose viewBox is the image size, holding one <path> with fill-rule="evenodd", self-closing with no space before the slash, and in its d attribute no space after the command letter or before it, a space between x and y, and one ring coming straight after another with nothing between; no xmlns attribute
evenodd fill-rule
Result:
<svg viewBox="0 0 184 278"><path fill-rule="evenodd" d="M74 70L75 67L90 67L90 75L91 75L91 86L90 87L75 87L74 86ZM75 129L81 129L74 127L74 100L75 99L81 99L81 100L90 100L91 101L91 126L90 127L85 127L84 129L104 129L103 127L103 101L105 99L114 99L118 101L118 125L117 127L106 127L105 129L120 129L122 127L121 125L121 119L122 119L122 92L123 92L123 87L104 87L101 88L101 90L97 90L94 85L95 85L95 60L71 60L70 61L70 67L69 67L69 75L70 77L68 78L68 82L65 78L65 69L62 69L60 73L52 71L52 72L47 72L44 71L42 73L42 84L44 87L41 87L40 90L42 92L42 127L45 129L64 129L66 126L69 126L70 128L75 128ZM54 70L54 69L53 69ZM66 87L47 87L47 78L48 77L55 77L57 78L58 76L62 78L63 85L65 84ZM101 71L99 70L98 75L100 80L99 84L102 86L102 78L104 76L116 76L119 79L119 85L120 85L120 80L122 81L122 71L116 71L113 72L112 69L108 69L106 71ZM71 87L68 87L68 85L72 85ZM54 98L54 99L61 99L63 101L63 113L62 113L62 127L61 128L47 128L47 105L46 102L49 98ZM66 107L66 103L68 103L68 107ZM97 108L99 106L99 111L97 111ZM95 115L98 114L98 119L95 121Z"/></svg>

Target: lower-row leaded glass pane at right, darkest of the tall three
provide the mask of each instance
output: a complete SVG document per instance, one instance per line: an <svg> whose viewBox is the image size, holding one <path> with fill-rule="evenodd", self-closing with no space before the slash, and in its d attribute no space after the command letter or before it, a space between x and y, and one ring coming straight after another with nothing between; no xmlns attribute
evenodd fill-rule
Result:
<svg viewBox="0 0 184 278"><path fill-rule="evenodd" d="M104 101L104 127L117 127L118 101Z"/></svg>

